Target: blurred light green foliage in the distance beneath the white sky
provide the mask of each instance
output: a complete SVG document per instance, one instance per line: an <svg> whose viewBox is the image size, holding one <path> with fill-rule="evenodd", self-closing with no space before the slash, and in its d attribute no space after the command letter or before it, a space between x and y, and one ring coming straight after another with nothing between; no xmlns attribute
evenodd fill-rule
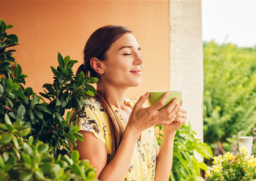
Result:
<svg viewBox="0 0 256 181"><path fill-rule="evenodd" d="M238 48L231 43L204 42L204 142L225 143L238 133L253 136L255 50L256 47ZM226 149L231 151L230 146Z"/></svg>

